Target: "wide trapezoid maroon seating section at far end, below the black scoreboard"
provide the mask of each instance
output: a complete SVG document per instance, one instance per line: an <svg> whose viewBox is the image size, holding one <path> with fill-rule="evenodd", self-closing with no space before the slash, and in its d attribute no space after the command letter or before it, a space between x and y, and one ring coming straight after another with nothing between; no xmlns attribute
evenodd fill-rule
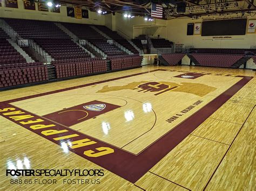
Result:
<svg viewBox="0 0 256 191"><path fill-rule="evenodd" d="M244 57L244 55L229 54L192 54L192 56L201 66L214 67L231 67L235 62Z"/></svg>

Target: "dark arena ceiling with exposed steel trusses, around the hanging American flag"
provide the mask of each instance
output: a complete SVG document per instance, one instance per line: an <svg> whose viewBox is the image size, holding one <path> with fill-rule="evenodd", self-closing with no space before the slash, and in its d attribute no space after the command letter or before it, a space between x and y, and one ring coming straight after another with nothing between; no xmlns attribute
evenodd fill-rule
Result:
<svg viewBox="0 0 256 191"><path fill-rule="evenodd" d="M256 0L163 0L163 1L145 1L145 0L60 0L59 3L68 6L82 6L97 11L102 9L107 13L126 13L129 12L135 16L150 16L151 3L162 4L164 8L164 19L177 17L197 17L205 15L226 15L230 13L255 14ZM186 12L177 12L177 4L185 2ZM218 6L218 9L215 7ZM214 7L214 9L212 9Z"/></svg>

